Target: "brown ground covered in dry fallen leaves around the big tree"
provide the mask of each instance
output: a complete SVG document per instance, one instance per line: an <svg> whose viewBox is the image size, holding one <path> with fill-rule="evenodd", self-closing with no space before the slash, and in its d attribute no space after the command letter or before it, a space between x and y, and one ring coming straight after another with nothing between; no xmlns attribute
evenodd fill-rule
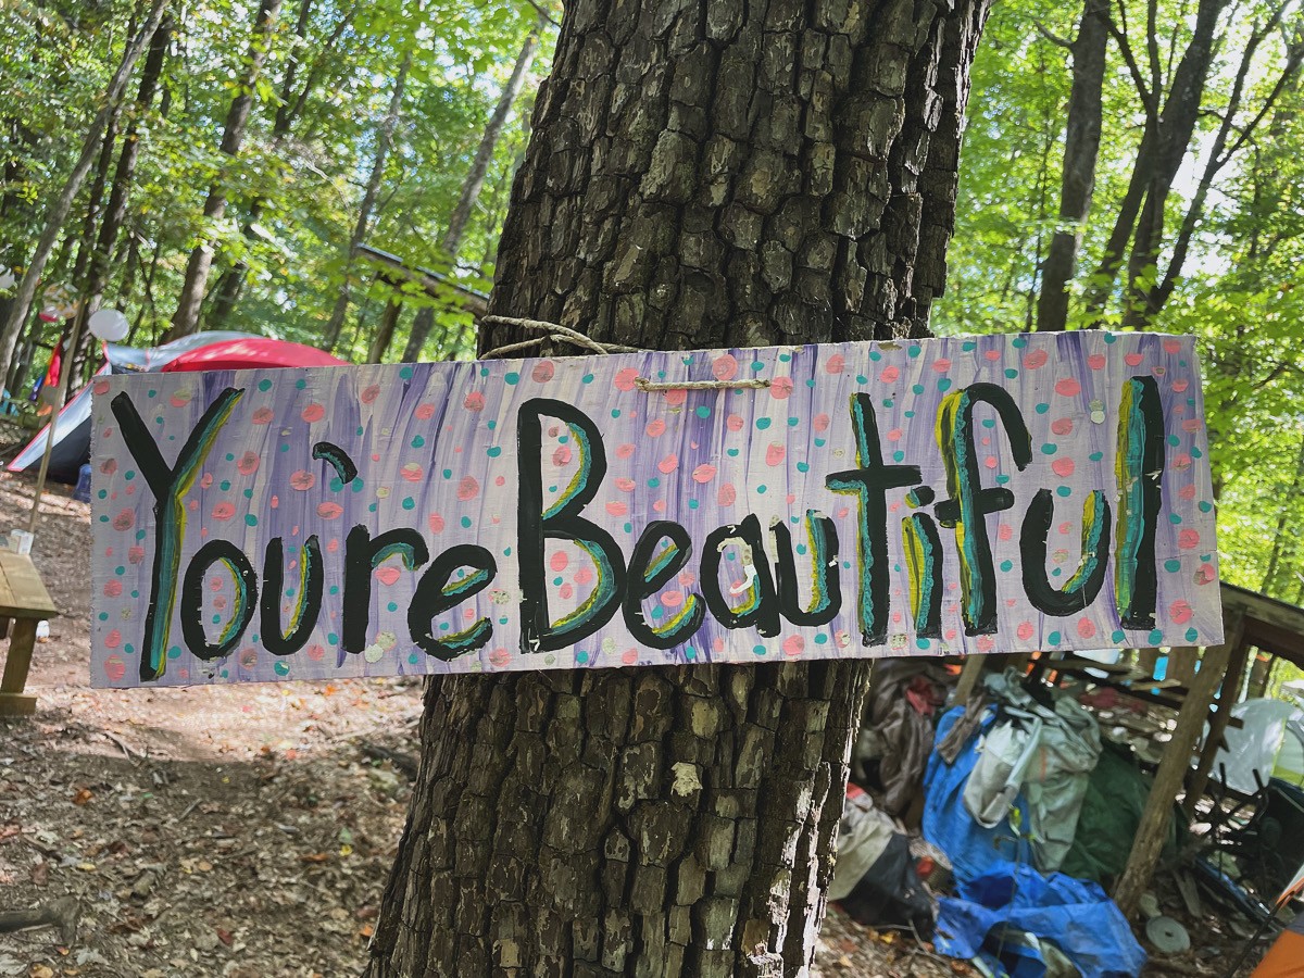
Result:
<svg viewBox="0 0 1304 978"><path fill-rule="evenodd" d="M0 476L0 531L30 506ZM409 795L386 752L412 754L420 682L91 690L89 552L89 507L56 486L33 559L64 614L35 717L0 721L0 910L74 897L80 919L67 944L0 935L0 977L357 975ZM971 973L837 908L815 969Z"/></svg>

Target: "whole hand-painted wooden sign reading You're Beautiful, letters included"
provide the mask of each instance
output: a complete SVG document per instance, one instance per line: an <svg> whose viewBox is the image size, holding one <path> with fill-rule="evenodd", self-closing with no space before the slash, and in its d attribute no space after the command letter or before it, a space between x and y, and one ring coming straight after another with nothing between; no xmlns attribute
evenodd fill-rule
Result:
<svg viewBox="0 0 1304 978"><path fill-rule="evenodd" d="M644 383L742 379L768 386ZM96 685L1222 638L1189 339L137 374L94 393Z"/></svg>

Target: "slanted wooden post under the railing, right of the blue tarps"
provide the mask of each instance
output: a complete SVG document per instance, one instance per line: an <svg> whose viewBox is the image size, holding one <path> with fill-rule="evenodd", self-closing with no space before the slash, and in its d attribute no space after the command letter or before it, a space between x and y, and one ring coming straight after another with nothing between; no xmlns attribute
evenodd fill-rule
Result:
<svg viewBox="0 0 1304 978"><path fill-rule="evenodd" d="M1132 917L1137 909L1137 901L1150 885L1154 867L1159 862L1159 850L1163 849L1163 840L1168 837L1172 803L1176 801L1181 782L1191 768L1191 752L1194 750L1201 729L1204 729L1214 690L1218 689L1218 683L1222 682L1223 674L1227 672L1227 659L1231 649L1240 644L1244 634L1241 613L1236 610L1232 612L1232 615L1231 621L1227 622L1227 640L1221 645L1205 649L1200 672L1191 682L1187 700L1178 715L1178 726L1163 751L1159 769L1154 773L1154 784L1146 798L1141 824L1132 841L1128 865L1114 888L1114 902L1127 917Z"/></svg>

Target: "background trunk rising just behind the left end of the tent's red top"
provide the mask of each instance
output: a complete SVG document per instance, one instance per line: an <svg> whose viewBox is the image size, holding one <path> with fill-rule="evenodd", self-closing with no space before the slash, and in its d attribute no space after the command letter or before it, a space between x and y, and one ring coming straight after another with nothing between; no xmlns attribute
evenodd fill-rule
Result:
<svg viewBox="0 0 1304 978"><path fill-rule="evenodd" d="M258 5L245 74L240 80L236 96L231 100L231 108L227 111L227 120L222 129L220 151L227 156L240 155L245 129L249 125L249 113L253 111L258 76L262 74L262 67L271 48L271 33L275 29L278 13L280 13L280 0L262 0ZM209 197L203 202L203 233L207 233L207 228L220 220L226 213L226 172L220 172L216 181L209 188ZM189 336L200 329L200 306L203 303L203 292L207 288L211 270L213 243L203 240L190 252L190 261L185 266L185 282L181 284L181 296L177 300L176 312L172 314L172 327L164 336L164 342Z"/></svg>

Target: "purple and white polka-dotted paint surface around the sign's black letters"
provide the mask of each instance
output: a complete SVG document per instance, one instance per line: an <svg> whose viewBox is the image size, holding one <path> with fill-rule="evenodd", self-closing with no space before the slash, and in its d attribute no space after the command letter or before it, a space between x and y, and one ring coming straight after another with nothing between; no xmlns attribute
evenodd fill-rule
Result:
<svg viewBox="0 0 1304 978"><path fill-rule="evenodd" d="M1123 631L1112 597L1112 567L1097 601L1081 614L1047 618L1028 602L1018 566L1018 528L1033 493L1059 489L1047 572L1060 587L1081 556L1081 506L1102 489L1118 507L1115 449L1123 382L1158 382L1167 428L1163 512L1157 529L1159 580L1155 631ZM769 389L643 393L653 381L763 378ZM983 484L998 480L1015 507L988 516L1000 627L965 636L958 608L955 535L941 529L944 579L940 640L917 639L910 627L900 522L905 489L889 493L892 623L885 645L865 648L857 622L855 501L828 490L831 472L855 468L849 400L872 395L884 462L919 466L926 485L947 497L936 442L943 396L973 382L1001 385L1033 436L1033 464L1017 472L1003 429L979 426ZM257 639L258 615L227 659L205 662L185 648L177 615L170 627L166 673L151 685L393 675L539 668L591 668L669 662L760 662L840 657L1112 645L1210 644L1222 638L1208 445L1198 368L1191 339L1151 334L1069 333L853 343L763 349L638 353L608 357L373 365L304 370L140 374L96 381L94 402L94 652L96 686L142 685L138 655L150 597L154 498L117 432L110 409L126 393L172 463L205 408L226 387L244 389L200 476L184 497L183 567L206 541L232 541L262 575L273 536L284 539L287 569L312 533L322 541L326 596L308 645L288 657ZM842 609L824 627L795 627L762 638L726 630L709 614L690 642L670 651L639 647L617 613L596 635L559 652L520 651L516 553L516 411L529 398L579 407L602 433L609 469L584 516L605 527L625 558L653 519L685 526L692 561L657 599L673 614L696 588L702 542L717 526L756 514L763 527L795 526L807 510L833 518L840 546ZM576 458L565 425L544 424L545 501L569 484ZM355 459L359 479L342 486L313 445L330 441ZM528 460L526 460L528 464ZM1067 496L1064 494L1067 490ZM407 608L420 570L390 559L372 582L372 634L365 655L340 649L343 539L355 524L372 533L420 529L432 557L455 544L480 544L498 561L494 582L446 617L451 631L480 617L493 622L489 644L451 662L419 649L408 636ZM732 548L734 549L734 548ZM773 561L773 540L767 544ZM734 554L737 557L737 554ZM726 558L729 554L726 554ZM553 619L592 591L591 561L578 548L549 541L548 596ZM742 582L738 559L722 563L726 588ZM798 556L802 601L810 559ZM730 574L733 576L730 576ZM287 571L287 582L296 580ZM230 618L230 575L206 583L203 621L210 638ZM292 599L283 601L288 621ZM216 619L216 623L214 623ZM437 619L438 622L439 619Z"/></svg>

